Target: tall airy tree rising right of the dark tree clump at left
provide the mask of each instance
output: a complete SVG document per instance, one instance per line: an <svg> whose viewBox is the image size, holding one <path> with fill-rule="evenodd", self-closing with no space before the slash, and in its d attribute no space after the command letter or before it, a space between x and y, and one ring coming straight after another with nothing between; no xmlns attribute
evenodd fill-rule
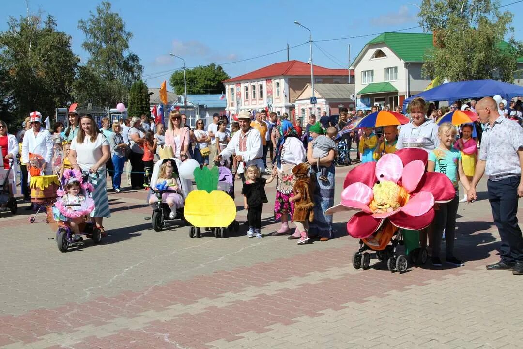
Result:
<svg viewBox="0 0 523 349"><path fill-rule="evenodd" d="M78 102L102 106L127 102L132 83L140 80L143 71L138 55L129 51L132 33L118 13L111 11L109 2L101 3L96 13L89 12L89 18L79 21L78 28L85 33L82 47L90 55L78 76ZM84 85L98 88L86 89Z"/></svg>

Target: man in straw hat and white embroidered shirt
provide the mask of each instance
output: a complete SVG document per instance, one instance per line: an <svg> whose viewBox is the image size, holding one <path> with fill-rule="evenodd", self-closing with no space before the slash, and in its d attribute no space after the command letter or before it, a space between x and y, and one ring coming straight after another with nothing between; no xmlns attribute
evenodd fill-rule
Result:
<svg viewBox="0 0 523 349"><path fill-rule="evenodd" d="M221 153L214 157L214 161L220 161L222 157L229 157L235 154L238 162L238 175L245 182L243 174L244 168L250 165L256 165L260 172L265 171L263 164L263 142L258 130L251 127L251 112L247 110L240 111L238 114L238 124L240 130L235 132L227 147Z"/></svg>

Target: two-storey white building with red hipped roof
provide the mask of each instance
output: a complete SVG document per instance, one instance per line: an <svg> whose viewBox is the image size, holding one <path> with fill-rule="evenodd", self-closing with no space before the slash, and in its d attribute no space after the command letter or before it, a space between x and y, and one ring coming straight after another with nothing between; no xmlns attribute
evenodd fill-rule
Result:
<svg viewBox="0 0 523 349"><path fill-rule="evenodd" d="M308 63L297 60L274 63L225 80L225 110L229 115L236 115L242 109L257 111L268 107L279 115L287 112L293 118L294 102L309 83L311 66ZM314 65L314 83L354 84L354 71ZM322 108L325 109L325 106L321 106L320 110L309 108L304 117L308 117L311 112L321 114L326 111L330 114L329 110Z"/></svg>

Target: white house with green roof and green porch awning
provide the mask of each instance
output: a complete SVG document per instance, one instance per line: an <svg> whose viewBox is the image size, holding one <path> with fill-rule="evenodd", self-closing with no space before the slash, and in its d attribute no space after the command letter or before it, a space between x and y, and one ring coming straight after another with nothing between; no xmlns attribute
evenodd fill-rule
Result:
<svg viewBox="0 0 523 349"><path fill-rule="evenodd" d="M350 67L355 71L356 95L366 105L401 106L406 96L424 91L430 83L422 66L433 49L431 33L381 33L365 44ZM523 57L518 67L523 67Z"/></svg>

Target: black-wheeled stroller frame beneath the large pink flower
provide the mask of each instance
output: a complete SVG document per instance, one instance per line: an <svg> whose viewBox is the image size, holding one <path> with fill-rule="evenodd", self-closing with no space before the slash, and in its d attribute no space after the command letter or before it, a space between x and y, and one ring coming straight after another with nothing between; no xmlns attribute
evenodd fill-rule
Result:
<svg viewBox="0 0 523 349"><path fill-rule="evenodd" d="M410 255L415 265L427 262L427 250L419 247L419 233L416 230L399 229L389 220L385 220L376 235L361 239L359 249L353 254L353 266L368 269L370 267L370 253L366 250L376 251L379 261L386 261L390 272L403 273L408 268L407 257L396 253L397 245L405 245L405 254Z"/></svg>

